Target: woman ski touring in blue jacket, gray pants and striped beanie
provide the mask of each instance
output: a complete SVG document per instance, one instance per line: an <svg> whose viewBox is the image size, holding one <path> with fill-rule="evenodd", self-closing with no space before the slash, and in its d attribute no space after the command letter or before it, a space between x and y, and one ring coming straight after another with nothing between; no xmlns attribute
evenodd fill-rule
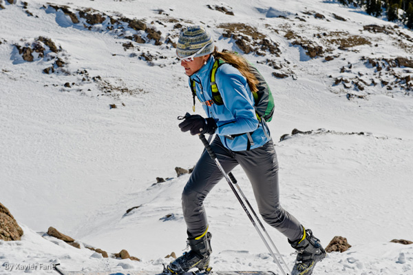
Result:
<svg viewBox="0 0 413 275"><path fill-rule="evenodd" d="M176 54L207 114L206 119L187 114L179 124L180 129L192 135L217 134L211 147L224 170L228 173L241 165L251 181L262 218L297 249L292 274L311 274L315 263L321 261L326 252L311 230L304 229L279 203L277 155L266 124L257 119L253 92L257 92L259 81L251 74L248 63L232 52L218 52L211 34L202 26L191 26L181 32ZM213 100L211 88L215 59L225 61L215 73L215 84L223 103L220 105ZM205 150L182 192L187 243L191 250L167 266L172 274L183 274L193 267L209 272L211 233L203 201L222 178Z"/></svg>

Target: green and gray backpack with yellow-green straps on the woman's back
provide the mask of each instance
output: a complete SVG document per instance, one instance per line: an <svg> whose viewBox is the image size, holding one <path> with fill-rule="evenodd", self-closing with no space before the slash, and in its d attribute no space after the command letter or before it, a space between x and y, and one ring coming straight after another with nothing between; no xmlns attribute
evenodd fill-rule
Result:
<svg viewBox="0 0 413 275"><path fill-rule="evenodd" d="M211 70L211 90L213 102L207 101L202 104L224 104L224 102L222 101L220 91L218 90L217 83L215 82L215 74L217 73L218 68L220 68L220 65L224 63L226 62L221 59L215 60L215 62L213 63L213 68ZM258 91L253 92L255 100L255 113L257 114L257 119L259 121L262 121L262 118L264 118L264 121L271 121L271 119L273 119L274 114L274 98L273 94L271 94L270 86L266 83L264 77L262 77L260 72L258 72L257 68L255 68L255 66L252 63L248 62L248 68L250 72L254 74L255 78L257 78L257 80L260 82L257 85ZM195 81L191 81L191 90L193 95L193 109L195 110Z"/></svg>

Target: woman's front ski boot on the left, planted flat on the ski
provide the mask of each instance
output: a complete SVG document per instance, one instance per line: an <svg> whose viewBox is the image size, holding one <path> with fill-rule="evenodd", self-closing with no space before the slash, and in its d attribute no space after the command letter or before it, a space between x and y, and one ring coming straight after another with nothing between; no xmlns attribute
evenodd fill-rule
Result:
<svg viewBox="0 0 413 275"><path fill-rule="evenodd" d="M164 272L181 275L195 267L199 271L209 273L212 269L209 267L209 256L212 253L211 236L212 234L207 232L207 234L198 238L188 238L187 244L191 247L191 250L169 263Z"/></svg>

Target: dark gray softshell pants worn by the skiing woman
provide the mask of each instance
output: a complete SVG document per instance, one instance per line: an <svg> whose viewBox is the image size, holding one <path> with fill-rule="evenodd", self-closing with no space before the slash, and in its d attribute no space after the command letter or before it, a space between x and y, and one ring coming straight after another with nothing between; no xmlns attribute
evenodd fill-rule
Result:
<svg viewBox="0 0 413 275"><path fill-rule="evenodd" d="M251 181L258 210L264 221L290 241L301 238L303 227L279 203L278 161L273 141L250 151L233 152L224 147L216 136L211 147L227 173L236 165L241 165ZM207 214L203 201L223 177L208 152L204 150L182 192L182 210L189 238L200 236L207 230Z"/></svg>

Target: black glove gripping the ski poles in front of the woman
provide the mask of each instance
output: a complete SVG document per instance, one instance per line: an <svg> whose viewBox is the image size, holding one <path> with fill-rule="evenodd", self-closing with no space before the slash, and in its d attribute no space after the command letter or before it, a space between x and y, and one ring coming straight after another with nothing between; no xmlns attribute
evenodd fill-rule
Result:
<svg viewBox="0 0 413 275"><path fill-rule="evenodd" d="M190 131L194 136L195 134L213 134L217 129L217 123L215 119L204 119L199 114L191 115L185 114L184 121L179 124L179 128L182 132Z"/></svg>

